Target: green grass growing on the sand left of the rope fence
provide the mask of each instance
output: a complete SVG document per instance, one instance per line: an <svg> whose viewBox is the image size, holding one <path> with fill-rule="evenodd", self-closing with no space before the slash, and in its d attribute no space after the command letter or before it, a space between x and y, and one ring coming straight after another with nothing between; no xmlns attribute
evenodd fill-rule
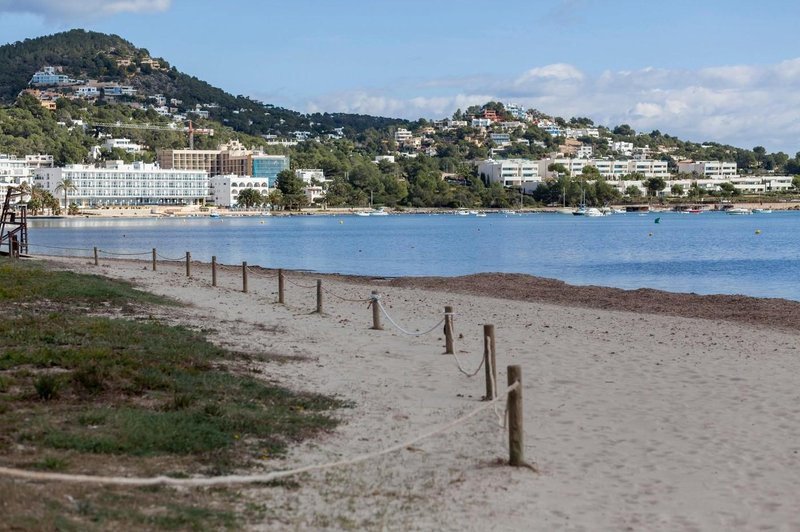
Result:
<svg viewBox="0 0 800 532"><path fill-rule="evenodd" d="M26 285L28 295L47 292L51 302L78 297L120 303L134 295L150 301L124 283L99 277L2 261L0 270ZM0 300L13 307L9 293L18 292L18 286L0 292ZM234 355L200 332L152 320L76 316L66 305L47 312L18 305L0 320L0 345L0 371L13 372L14 386L22 390L6 397L13 408L0 413L0 426L6 438L27 445L188 455L227 469L233 456L281 454L289 443L334 427L327 412L344 406L216 369L216 362ZM4 377L0 391L9 388ZM26 418L35 421L23 423Z"/></svg>

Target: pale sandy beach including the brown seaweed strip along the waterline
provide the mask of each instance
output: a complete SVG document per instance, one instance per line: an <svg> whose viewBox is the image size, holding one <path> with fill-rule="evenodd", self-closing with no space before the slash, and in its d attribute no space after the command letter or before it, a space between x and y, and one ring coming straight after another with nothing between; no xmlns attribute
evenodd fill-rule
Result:
<svg viewBox="0 0 800 532"><path fill-rule="evenodd" d="M235 266L215 288L199 263L187 278L182 263L153 272L146 262L51 260L188 303L158 317L210 329L231 349L295 359L254 357L247 369L353 403L338 429L264 471L378 451L480 406L483 371L459 372L441 328L415 337L384 319L385 330L370 329L371 290L409 331L452 305L467 369L480 363L483 325L495 325L499 383L508 365L522 367L524 451L538 472L505 465L507 432L488 410L380 458L236 488L243 504L269 509L257 530L800 530L800 303L500 274L288 272L278 305L273 271L254 269L243 293Z"/></svg>

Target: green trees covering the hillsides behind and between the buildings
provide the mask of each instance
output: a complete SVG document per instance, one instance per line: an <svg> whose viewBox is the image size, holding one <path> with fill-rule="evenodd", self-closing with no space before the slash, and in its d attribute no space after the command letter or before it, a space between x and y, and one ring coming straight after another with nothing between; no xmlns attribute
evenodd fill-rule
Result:
<svg viewBox="0 0 800 532"><path fill-rule="evenodd" d="M132 85L138 93L134 97L117 99L101 97L96 102L61 98L55 110L45 110L32 96L17 95L27 86L31 75L47 64L63 67L64 73L73 78ZM767 153L760 146L744 149L714 142L701 144L658 130L636 132L627 124L595 126L586 117L565 119L537 110L528 111L533 121L516 122L500 102L458 110L452 119L459 121L459 125L448 128L425 119L409 122L346 113L303 115L245 96L233 96L179 72L162 58L150 57L147 50L136 48L120 37L83 30L0 47L0 100L10 103L0 108L0 153L18 156L48 153L54 156L56 165L92 162L92 147L102 144L98 137L113 135L131 139L142 145L144 151L129 154L120 149L103 150L100 160L154 161L156 149L187 147L187 134L180 130L183 126L166 131L93 127L98 123L168 126L171 119L161 116L147 99L154 94L171 100L170 106L177 107L179 112L188 112L189 117L197 116L191 114L196 106L208 112L208 119L193 120L198 127L213 128L215 136L195 136L196 148L213 149L235 138L250 148L290 156L292 170L322 169L325 177L333 180L328 185L325 200L329 206L372 203L471 208L511 207L534 202L575 204L581 201L583 194L590 204L619 199L619 191L598 179L591 169L580 176L561 172L561 178L546 183L531 196L523 196L519 190L506 189L496 183L485 183L477 175L475 162L478 160L489 157L541 159L563 151L567 141L591 146L596 158L630 158L630 153L613 150L614 142L628 143L634 149L646 149L650 158L667 161L672 175L684 179L699 177L677 174L677 162L687 159L736 162L739 171L745 174L800 173L800 153L791 157L782 152ZM493 125L489 132L471 127L469 120L484 113L497 116L506 125ZM539 119L543 122L538 122ZM545 123L562 129L596 127L597 134L565 139L546 132ZM409 130L414 142L398 142L395 133L399 128ZM290 139L296 131L308 132L311 140L294 146L266 141L273 135ZM506 133L509 142L498 144L500 140L489 134L496 132ZM377 156L393 156L395 161L376 164ZM642 180L637 174L623 178ZM584 181L594 184L586 187L582 184ZM281 186L284 190L280 195L262 198L263 201L275 204L275 200L280 199L289 208L303 205L302 195L295 190L297 183L283 179ZM699 197L716 193L694 189L678 192ZM737 192L734 190L731 194ZM640 193L643 191L635 186L627 187L625 196L635 200ZM256 200L258 198L254 197L248 201L258 203Z"/></svg>

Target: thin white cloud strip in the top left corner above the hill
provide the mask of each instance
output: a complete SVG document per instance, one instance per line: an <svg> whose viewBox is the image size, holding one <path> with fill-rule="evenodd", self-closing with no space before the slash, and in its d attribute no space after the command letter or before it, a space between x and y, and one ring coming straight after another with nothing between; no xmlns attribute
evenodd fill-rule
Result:
<svg viewBox="0 0 800 532"><path fill-rule="evenodd" d="M48 20L150 13L169 9L172 0L0 0L0 13L31 13Z"/></svg>

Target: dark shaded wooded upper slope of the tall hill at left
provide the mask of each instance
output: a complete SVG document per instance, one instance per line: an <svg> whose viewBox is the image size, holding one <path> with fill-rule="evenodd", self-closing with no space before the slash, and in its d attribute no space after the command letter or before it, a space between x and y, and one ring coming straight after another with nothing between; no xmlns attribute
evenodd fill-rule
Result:
<svg viewBox="0 0 800 532"><path fill-rule="evenodd" d="M151 61L158 63L152 68ZM28 87L33 74L43 66L60 66L75 79L94 79L131 85L140 97L163 94L177 99L181 110L196 104L216 104L210 118L251 135L286 134L291 131L324 133L344 127L353 133L370 128L407 124L405 120L346 113L304 115L264 104L244 96L233 96L154 58L143 48L116 35L71 30L0 46L0 103L9 105Z"/></svg>

